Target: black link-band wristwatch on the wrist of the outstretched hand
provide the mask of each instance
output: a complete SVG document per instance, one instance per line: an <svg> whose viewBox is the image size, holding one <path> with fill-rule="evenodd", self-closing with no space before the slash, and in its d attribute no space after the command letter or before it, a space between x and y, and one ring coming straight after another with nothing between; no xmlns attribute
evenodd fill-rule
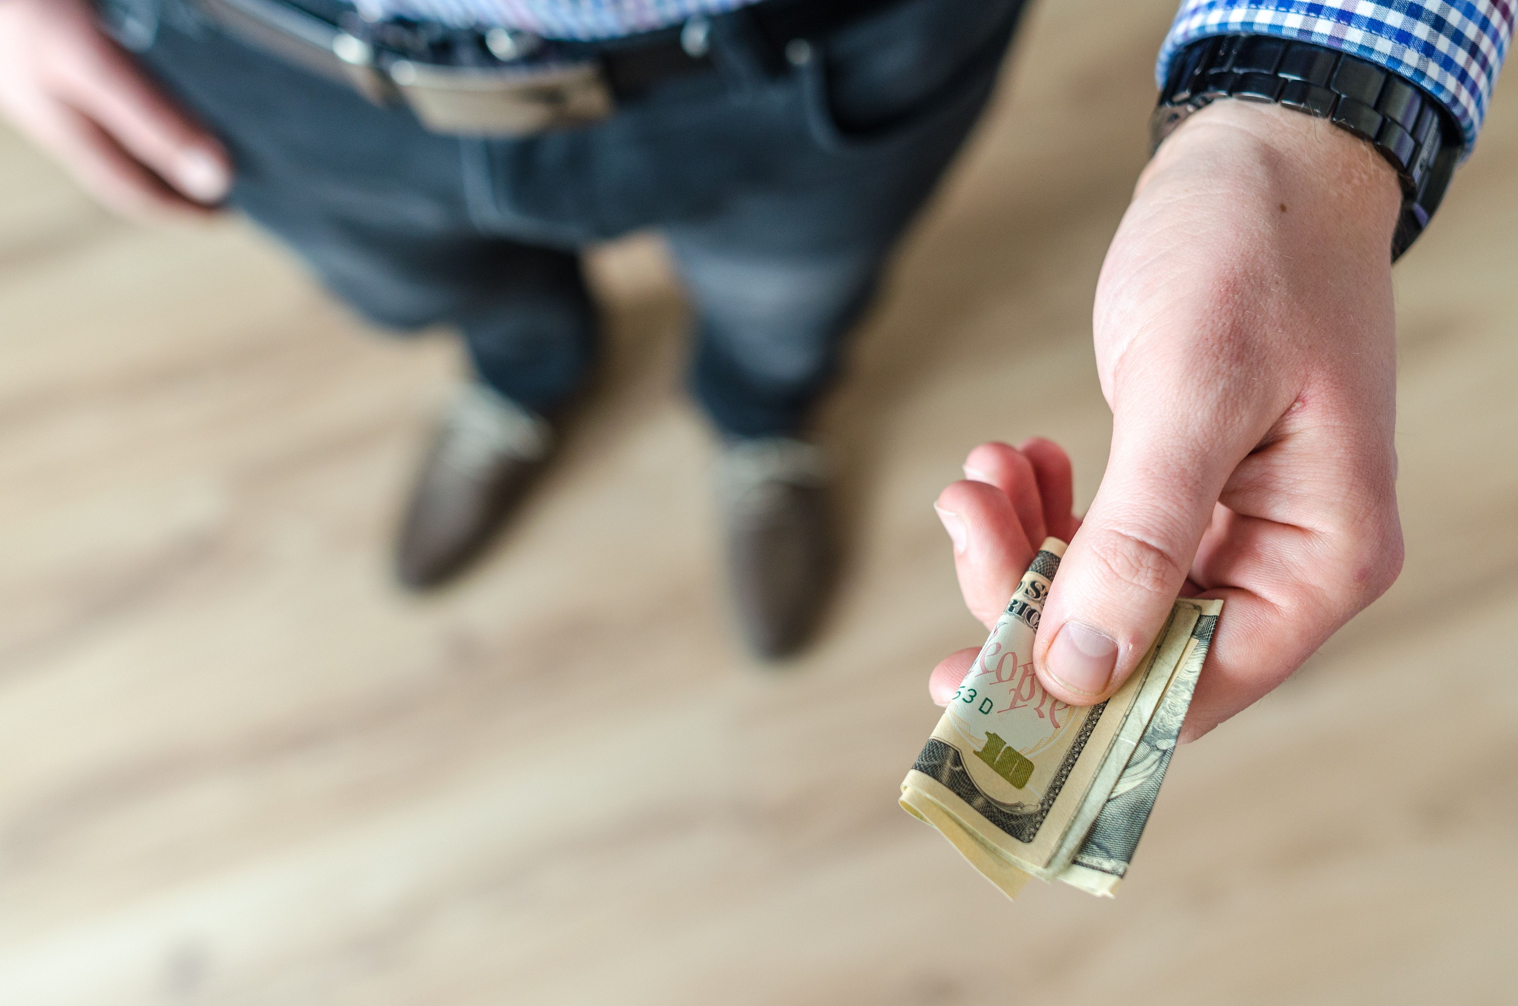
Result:
<svg viewBox="0 0 1518 1006"><path fill-rule="evenodd" d="M1271 35L1217 35L1187 46L1149 122L1154 149L1220 97L1278 102L1369 141L1397 169L1403 213L1392 261L1422 234L1460 158L1460 129L1444 105L1383 67L1327 46Z"/></svg>

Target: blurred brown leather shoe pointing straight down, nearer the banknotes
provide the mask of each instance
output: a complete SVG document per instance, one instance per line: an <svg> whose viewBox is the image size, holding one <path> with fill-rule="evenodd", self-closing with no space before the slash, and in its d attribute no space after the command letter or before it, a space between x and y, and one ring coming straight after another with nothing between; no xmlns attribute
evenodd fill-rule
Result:
<svg viewBox="0 0 1518 1006"><path fill-rule="evenodd" d="M739 629L757 656L788 656L817 628L832 588L821 451L789 438L736 441L716 477Z"/></svg>

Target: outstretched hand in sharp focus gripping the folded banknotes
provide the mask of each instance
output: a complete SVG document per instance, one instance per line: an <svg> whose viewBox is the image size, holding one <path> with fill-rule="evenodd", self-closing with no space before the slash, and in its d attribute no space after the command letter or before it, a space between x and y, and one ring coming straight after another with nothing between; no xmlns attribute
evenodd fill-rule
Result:
<svg viewBox="0 0 1518 1006"><path fill-rule="evenodd" d="M1369 144L1278 106L1217 102L1160 147L1098 283L1113 445L1079 530L1069 460L1047 441L978 447L972 482L937 505L987 626L1044 533L1075 533L1034 644L1053 696L1108 698L1176 594L1222 597L1183 732L1193 740L1397 579L1400 202ZM935 699L973 656L938 666Z"/></svg>

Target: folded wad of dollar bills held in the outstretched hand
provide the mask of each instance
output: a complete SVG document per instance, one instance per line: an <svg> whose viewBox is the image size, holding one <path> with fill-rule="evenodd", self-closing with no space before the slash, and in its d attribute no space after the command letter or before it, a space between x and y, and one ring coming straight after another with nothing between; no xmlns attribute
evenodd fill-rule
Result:
<svg viewBox="0 0 1518 1006"><path fill-rule="evenodd" d="M1222 611L1181 597L1138 670L1091 707L1060 702L1032 644L1066 544L1043 543L902 783L902 807L1008 897L1029 877L1113 897L1160 793Z"/></svg>

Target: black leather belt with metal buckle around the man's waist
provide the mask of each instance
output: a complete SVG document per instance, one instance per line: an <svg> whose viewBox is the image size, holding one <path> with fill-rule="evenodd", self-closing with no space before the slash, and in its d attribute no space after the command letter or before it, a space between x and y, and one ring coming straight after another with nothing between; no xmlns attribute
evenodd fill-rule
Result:
<svg viewBox="0 0 1518 1006"><path fill-rule="evenodd" d="M408 106L448 134L525 135L606 119L619 99L710 70L713 32L736 30L776 73L812 58L814 41L902 0L762 0L730 14L595 43L512 29L366 23L334 0L193 0L246 41L378 105Z"/></svg>

